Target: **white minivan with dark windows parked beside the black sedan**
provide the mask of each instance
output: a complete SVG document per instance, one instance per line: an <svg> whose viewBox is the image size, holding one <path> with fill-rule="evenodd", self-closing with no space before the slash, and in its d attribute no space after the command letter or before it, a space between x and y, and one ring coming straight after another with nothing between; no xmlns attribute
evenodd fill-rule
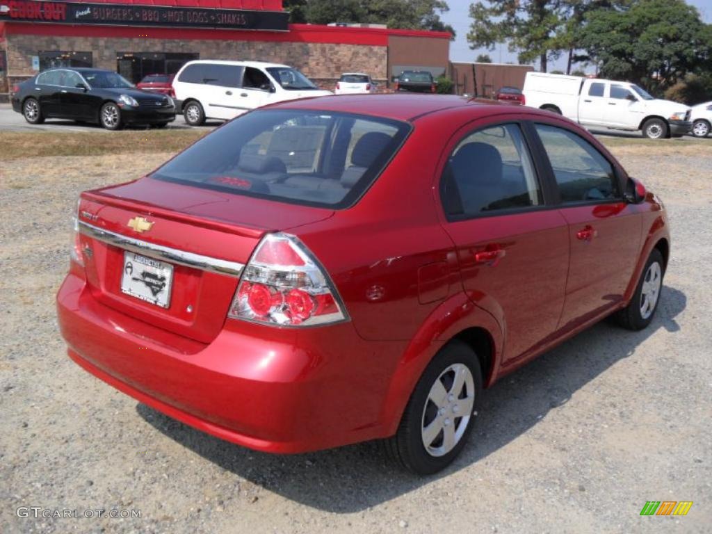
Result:
<svg viewBox="0 0 712 534"><path fill-rule="evenodd" d="M283 100L332 94L295 68L261 61L189 61L174 78L173 90L192 126Z"/></svg>

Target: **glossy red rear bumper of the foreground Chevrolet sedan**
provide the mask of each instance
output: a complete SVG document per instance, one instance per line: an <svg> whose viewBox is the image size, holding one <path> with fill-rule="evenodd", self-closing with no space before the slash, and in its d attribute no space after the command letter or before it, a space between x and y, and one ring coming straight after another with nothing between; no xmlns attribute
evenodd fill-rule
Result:
<svg viewBox="0 0 712 534"><path fill-rule="evenodd" d="M384 436L401 342L350 323L305 331L228 321L208 345L98 303L70 273L57 295L70 357L140 402L259 451L298 453Z"/></svg>

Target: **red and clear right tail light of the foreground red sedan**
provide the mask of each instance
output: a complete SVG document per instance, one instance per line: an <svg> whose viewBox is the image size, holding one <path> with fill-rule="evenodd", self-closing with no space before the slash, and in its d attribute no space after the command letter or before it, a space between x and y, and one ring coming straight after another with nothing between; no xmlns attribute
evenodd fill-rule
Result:
<svg viewBox="0 0 712 534"><path fill-rule="evenodd" d="M295 236L267 234L242 274L228 317L275 326L348 320L328 273Z"/></svg>

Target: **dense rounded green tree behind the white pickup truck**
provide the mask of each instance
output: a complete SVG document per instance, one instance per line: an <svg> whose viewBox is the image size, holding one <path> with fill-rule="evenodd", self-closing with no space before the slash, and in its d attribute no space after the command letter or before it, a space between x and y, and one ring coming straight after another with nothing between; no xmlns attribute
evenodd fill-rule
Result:
<svg viewBox="0 0 712 534"><path fill-rule="evenodd" d="M687 73L708 70L712 29L684 0L636 0L585 16L579 46L604 78L632 80L661 91Z"/></svg>

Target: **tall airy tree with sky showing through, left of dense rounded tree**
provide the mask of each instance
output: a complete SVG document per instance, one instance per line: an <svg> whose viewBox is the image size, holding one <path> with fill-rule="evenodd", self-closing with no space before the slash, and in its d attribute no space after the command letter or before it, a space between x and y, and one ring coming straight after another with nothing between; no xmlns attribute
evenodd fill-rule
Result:
<svg viewBox="0 0 712 534"><path fill-rule="evenodd" d="M486 0L470 6L473 22L467 40L470 48L494 50L507 41L511 52L519 51L521 63L538 59L540 69L547 70L550 58L561 52L561 28L569 6L564 0Z"/></svg>

